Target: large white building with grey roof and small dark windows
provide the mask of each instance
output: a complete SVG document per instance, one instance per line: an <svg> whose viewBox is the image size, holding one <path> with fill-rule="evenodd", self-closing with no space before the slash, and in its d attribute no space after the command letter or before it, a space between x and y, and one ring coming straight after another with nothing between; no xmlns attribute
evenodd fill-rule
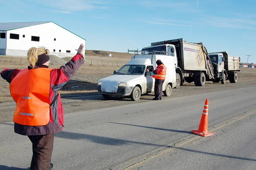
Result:
<svg viewBox="0 0 256 170"><path fill-rule="evenodd" d="M34 46L50 55L73 57L86 40L53 22L0 23L0 55L26 56Z"/></svg>

